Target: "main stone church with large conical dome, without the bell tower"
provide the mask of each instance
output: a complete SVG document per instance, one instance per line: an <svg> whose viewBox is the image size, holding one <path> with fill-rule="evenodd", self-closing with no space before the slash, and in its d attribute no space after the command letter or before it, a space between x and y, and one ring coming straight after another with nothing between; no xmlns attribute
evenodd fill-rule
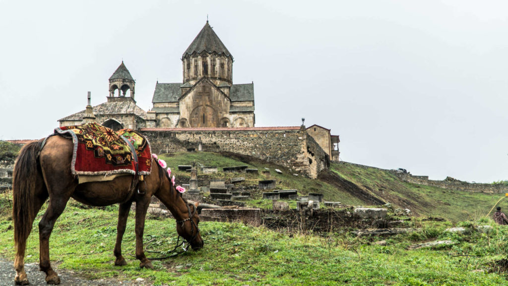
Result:
<svg viewBox="0 0 508 286"><path fill-rule="evenodd" d="M233 55L206 21L182 55L183 82L160 83L147 127L254 127L254 84L233 84Z"/></svg>

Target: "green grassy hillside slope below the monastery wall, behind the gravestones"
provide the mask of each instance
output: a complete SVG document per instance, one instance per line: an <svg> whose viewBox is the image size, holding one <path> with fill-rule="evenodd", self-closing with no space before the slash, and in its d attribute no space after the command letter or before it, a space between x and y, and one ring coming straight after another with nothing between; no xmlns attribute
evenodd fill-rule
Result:
<svg viewBox="0 0 508 286"><path fill-rule="evenodd" d="M401 181L394 174L377 168L362 168L347 163L332 163L330 170L324 171L316 180L294 176L291 169L261 161L257 158L239 156L231 153L172 153L162 155L174 170L179 182L188 182L189 174L178 171L178 165L188 165L193 161L206 166L218 167L214 175L199 174L200 179L231 179L245 177L241 185L257 185L259 180L268 179L261 175L265 168L270 169L270 179L277 181L279 189L297 189L299 194L309 192L323 193L325 201L341 202L350 206L376 206L391 203L396 208L409 209L417 216L442 217L450 221L478 219L485 216L503 194L473 193L459 190L411 184ZM248 165L258 168L259 175L223 173L221 167ZM283 174L275 173L274 169ZM271 202L261 201L258 193L252 206L269 207Z"/></svg>

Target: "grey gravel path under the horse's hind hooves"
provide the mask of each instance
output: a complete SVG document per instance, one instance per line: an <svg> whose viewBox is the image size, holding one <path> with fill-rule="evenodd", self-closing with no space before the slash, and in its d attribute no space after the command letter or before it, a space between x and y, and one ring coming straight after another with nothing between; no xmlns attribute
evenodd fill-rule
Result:
<svg viewBox="0 0 508 286"><path fill-rule="evenodd" d="M26 275L30 285L47 285L46 275L44 272L39 271L39 264L30 263L25 265ZM147 280L141 281L130 281L130 280L118 280L115 278L108 279L97 279L87 280L78 276L78 273L69 270L56 269L56 272L60 276L62 286L112 286L112 285L149 285L150 282ZM0 286L12 286L14 285L14 276L16 271L14 270L13 262L7 261L0 258Z"/></svg>

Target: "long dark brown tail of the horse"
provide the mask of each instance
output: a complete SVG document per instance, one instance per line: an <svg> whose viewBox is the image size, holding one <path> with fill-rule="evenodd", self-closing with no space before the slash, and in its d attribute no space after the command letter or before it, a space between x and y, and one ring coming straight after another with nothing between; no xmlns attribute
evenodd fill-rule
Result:
<svg viewBox="0 0 508 286"><path fill-rule="evenodd" d="M24 248L35 219L34 201L38 171L39 142L25 145L19 152L14 165L12 194L14 221L14 243L17 248ZM23 244L23 245L21 245Z"/></svg>

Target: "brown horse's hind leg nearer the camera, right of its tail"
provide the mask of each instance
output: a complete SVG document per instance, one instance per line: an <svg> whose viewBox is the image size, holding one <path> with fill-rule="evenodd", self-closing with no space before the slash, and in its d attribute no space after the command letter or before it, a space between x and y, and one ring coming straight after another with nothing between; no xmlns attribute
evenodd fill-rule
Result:
<svg viewBox="0 0 508 286"><path fill-rule="evenodd" d="M54 186L54 185L53 185ZM48 284L60 283L60 277L51 268L49 262L49 237L53 231L56 219L61 215L69 201L70 194L65 192L56 192L60 195L54 195L54 190L50 190L49 205L46 213L39 222L39 243L40 243L40 268L46 273L46 282Z"/></svg>

